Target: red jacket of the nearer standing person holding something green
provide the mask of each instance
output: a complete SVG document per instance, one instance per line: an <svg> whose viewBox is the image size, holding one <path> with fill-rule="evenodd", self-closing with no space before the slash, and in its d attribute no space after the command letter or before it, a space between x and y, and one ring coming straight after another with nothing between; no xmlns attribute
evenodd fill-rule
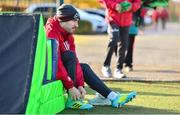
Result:
<svg viewBox="0 0 180 115"><path fill-rule="evenodd" d="M132 9L128 12L118 13L115 10L117 4L126 0L98 0L106 8L106 20L118 26L130 26L132 23L132 12L136 12L141 6L141 0L127 0L131 2Z"/></svg>

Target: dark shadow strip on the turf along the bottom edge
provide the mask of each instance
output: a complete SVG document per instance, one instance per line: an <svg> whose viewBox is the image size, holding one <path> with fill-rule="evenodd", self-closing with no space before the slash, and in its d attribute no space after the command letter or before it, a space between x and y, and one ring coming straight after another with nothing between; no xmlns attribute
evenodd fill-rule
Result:
<svg viewBox="0 0 180 115"><path fill-rule="evenodd" d="M179 113L175 111L169 111L163 109L126 105L122 108L113 108L111 106L95 106L91 110L65 109L59 114L179 114Z"/></svg>

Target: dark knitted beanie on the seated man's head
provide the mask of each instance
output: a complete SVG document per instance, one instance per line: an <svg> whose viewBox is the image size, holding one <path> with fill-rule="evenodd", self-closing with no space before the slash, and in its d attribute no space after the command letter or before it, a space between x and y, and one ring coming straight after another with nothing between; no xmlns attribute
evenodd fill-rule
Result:
<svg viewBox="0 0 180 115"><path fill-rule="evenodd" d="M77 10L72 5L68 4L62 4L61 6L59 6L57 8L56 16L62 22L80 19Z"/></svg>

